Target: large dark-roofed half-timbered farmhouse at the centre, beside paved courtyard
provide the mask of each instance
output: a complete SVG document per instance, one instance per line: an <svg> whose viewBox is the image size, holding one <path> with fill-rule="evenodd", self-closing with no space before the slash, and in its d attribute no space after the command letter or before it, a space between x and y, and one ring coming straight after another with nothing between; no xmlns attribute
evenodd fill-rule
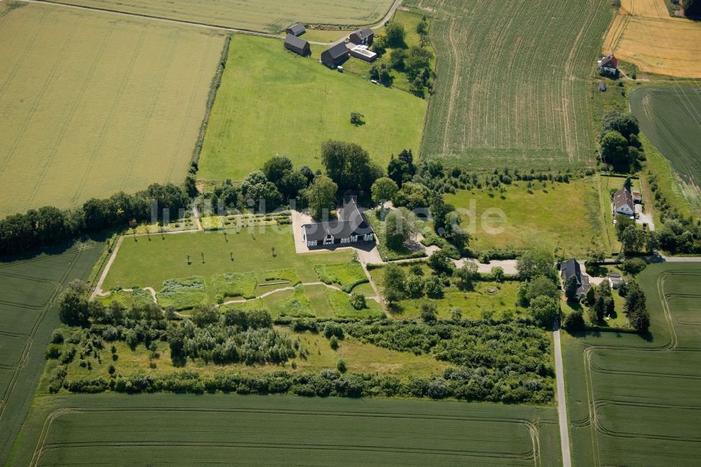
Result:
<svg viewBox="0 0 701 467"><path fill-rule="evenodd" d="M339 209L338 220L302 226L302 240L311 248L327 245L374 241L374 232L365 215L360 212L355 198Z"/></svg>

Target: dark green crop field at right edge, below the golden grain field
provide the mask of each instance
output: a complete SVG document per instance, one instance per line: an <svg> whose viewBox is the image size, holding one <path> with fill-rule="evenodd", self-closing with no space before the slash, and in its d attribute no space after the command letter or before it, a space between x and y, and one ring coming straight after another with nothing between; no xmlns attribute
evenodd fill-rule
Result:
<svg viewBox="0 0 701 467"><path fill-rule="evenodd" d="M688 201L701 201L701 88L639 86L630 93L630 109L648 139L681 177Z"/></svg>

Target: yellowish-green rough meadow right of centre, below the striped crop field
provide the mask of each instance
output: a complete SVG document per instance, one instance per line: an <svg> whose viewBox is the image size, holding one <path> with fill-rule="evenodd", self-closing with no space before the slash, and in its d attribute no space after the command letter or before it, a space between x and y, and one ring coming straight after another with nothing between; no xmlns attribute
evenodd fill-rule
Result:
<svg viewBox="0 0 701 467"><path fill-rule="evenodd" d="M532 194L526 182L517 182L498 190L458 190L445 200L461 211L463 228L470 231L470 247L539 248L565 256L581 257L587 250L603 248L601 215L597 189L590 177L569 183L533 182ZM474 201L475 211L470 211ZM506 222L484 222L489 212L501 210ZM496 219L496 217L494 217ZM472 220L472 224L470 221ZM491 233L490 229L498 229ZM501 230L501 232L499 232Z"/></svg>

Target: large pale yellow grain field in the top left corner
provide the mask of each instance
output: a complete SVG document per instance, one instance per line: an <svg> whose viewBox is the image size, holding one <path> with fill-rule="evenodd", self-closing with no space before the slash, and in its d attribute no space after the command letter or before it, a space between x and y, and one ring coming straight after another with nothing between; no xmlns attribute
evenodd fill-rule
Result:
<svg viewBox="0 0 701 467"><path fill-rule="evenodd" d="M182 181L224 36L3 2L0 43L0 217Z"/></svg>

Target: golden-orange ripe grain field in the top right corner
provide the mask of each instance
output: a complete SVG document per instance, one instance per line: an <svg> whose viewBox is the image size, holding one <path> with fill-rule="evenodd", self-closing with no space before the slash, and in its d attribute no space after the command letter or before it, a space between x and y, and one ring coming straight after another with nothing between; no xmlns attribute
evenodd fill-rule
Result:
<svg viewBox="0 0 701 467"><path fill-rule="evenodd" d="M644 72L701 78L701 22L669 16L663 0L622 0L604 53Z"/></svg>

